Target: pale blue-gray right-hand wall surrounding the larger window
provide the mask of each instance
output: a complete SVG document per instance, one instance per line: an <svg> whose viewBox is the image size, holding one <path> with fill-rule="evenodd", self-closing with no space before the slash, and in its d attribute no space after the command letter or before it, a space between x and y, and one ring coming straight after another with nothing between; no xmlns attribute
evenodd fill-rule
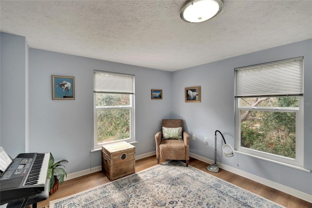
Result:
<svg viewBox="0 0 312 208"><path fill-rule="evenodd" d="M304 56L304 166L312 169L312 40L208 63L173 73L171 103L174 118L185 120L187 130L195 134L190 152L214 160L215 130L234 146L234 68ZM201 103L185 103L184 88L201 86ZM312 173L277 165L253 157L222 155L222 137L217 134L217 158L226 165L312 194ZM208 145L203 138L208 138Z"/></svg>

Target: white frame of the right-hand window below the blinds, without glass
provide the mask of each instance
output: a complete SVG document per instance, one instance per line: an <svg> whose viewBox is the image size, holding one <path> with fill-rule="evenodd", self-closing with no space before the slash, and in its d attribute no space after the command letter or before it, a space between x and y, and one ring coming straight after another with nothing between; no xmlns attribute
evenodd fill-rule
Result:
<svg viewBox="0 0 312 208"><path fill-rule="evenodd" d="M273 163L278 163L287 166L297 166L303 167L303 156L304 156L304 146L303 146L303 96L299 97L299 107L263 107L263 106L239 106L239 98L235 98L235 152L245 154L248 156L256 157L262 160L270 161ZM251 148L246 148L241 146L241 121L240 121L240 111L271 111L271 112L294 112L296 113L296 144L295 144L295 158L288 158L284 156L279 156L267 152L262 152L254 150Z"/></svg>

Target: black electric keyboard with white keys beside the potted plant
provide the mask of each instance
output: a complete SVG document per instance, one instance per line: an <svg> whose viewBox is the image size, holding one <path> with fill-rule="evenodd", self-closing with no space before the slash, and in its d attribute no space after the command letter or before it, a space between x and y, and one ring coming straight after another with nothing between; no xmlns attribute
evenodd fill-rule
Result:
<svg viewBox="0 0 312 208"><path fill-rule="evenodd" d="M50 153L19 154L0 177L0 205L44 191Z"/></svg>

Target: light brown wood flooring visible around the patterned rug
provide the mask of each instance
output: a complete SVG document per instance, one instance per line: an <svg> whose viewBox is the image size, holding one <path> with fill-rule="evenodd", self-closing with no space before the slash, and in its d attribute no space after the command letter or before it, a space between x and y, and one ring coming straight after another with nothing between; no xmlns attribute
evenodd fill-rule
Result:
<svg viewBox="0 0 312 208"><path fill-rule="evenodd" d="M164 162L165 160L160 160L160 163ZM157 165L156 156L147 157L141 160L136 161L136 172L144 170L148 167ZM190 166L193 166L197 169L205 171L209 174L212 174L220 179L228 181L238 187L242 187L247 189L257 195L260 195L264 198L267 198L277 204L280 204L287 208L312 208L312 204L308 203L304 200L298 199L293 197L289 194L283 193L271 187L267 187L256 183L252 180L246 179L234 173L228 172L226 170L220 169L218 173L210 172L206 169L208 166L207 163L202 161L196 160L194 158L190 158ZM96 173L92 173L86 176L82 176L79 178L75 178L72 180L65 181L61 186L59 186L59 190L49 197L49 199L44 200L38 203L38 208L48 207L49 201L56 200L59 198L63 198L80 191L97 187L102 184L108 183L109 180L106 175L99 171Z"/></svg>

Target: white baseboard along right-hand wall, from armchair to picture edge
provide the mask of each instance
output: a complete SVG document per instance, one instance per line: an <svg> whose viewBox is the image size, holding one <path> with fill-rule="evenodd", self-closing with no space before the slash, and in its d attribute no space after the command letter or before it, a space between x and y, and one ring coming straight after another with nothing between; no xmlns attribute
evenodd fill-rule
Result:
<svg viewBox="0 0 312 208"><path fill-rule="evenodd" d="M190 152L190 156L197 159L197 160L200 160L202 162L205 162L205 163L208 163L208 164L214 164L215 161L213 160L210 160L210 159L207 159L207 158L204 158L202 156L199 156L199 155L196 155L196 154L193 154ZM232 172L236 175L239 175L239 176L242 176L244 178L248 178L252 181L255 181L259 184L263 184L265 186L268 186L268 187L272 187L276 190L279 190L279 191L282 191L284 193L287 193L289 195L292 195L294 197L297 197L299 199L302 199L304 201L307 201L309 203L312 203L312 195L310 194L307 194L305 192L302 192L302 191L299 191L299 190L296 190L294 188L291 188L291 187L287 187L287 186L284 186L284 185L281 185L281 184L278 184L276 182L273 182L273 181L270 181L270 180L267 180L265 178L261 178L259 176L256 176L256 175L253 175L253 174L250 174L248 172L245 172L245 171L242 171L242 170L239 170L239 169L236 169L232 166L227 166L227 165L224 165L224 164L221 164L221 163L217 163L217 165L224 169L224 170L227 170L229 172Z"/></svg>

